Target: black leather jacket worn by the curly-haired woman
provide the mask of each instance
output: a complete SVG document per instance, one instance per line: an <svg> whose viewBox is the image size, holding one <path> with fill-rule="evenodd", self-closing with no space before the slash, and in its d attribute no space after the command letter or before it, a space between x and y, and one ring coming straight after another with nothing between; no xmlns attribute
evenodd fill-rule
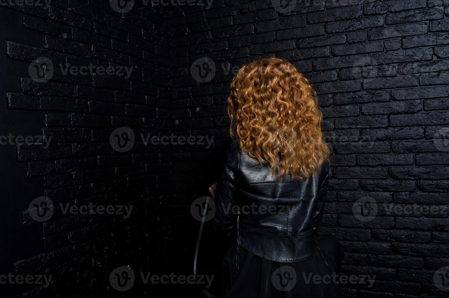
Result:
<svg viewBox="0 0 449 298"><path fill-rule="evenodd" d="M271 168L231 143L215 195L214 228L264 259L295 263L313 256L313 234L326 201L329 164L312 177L275 180Z"/></svg>

